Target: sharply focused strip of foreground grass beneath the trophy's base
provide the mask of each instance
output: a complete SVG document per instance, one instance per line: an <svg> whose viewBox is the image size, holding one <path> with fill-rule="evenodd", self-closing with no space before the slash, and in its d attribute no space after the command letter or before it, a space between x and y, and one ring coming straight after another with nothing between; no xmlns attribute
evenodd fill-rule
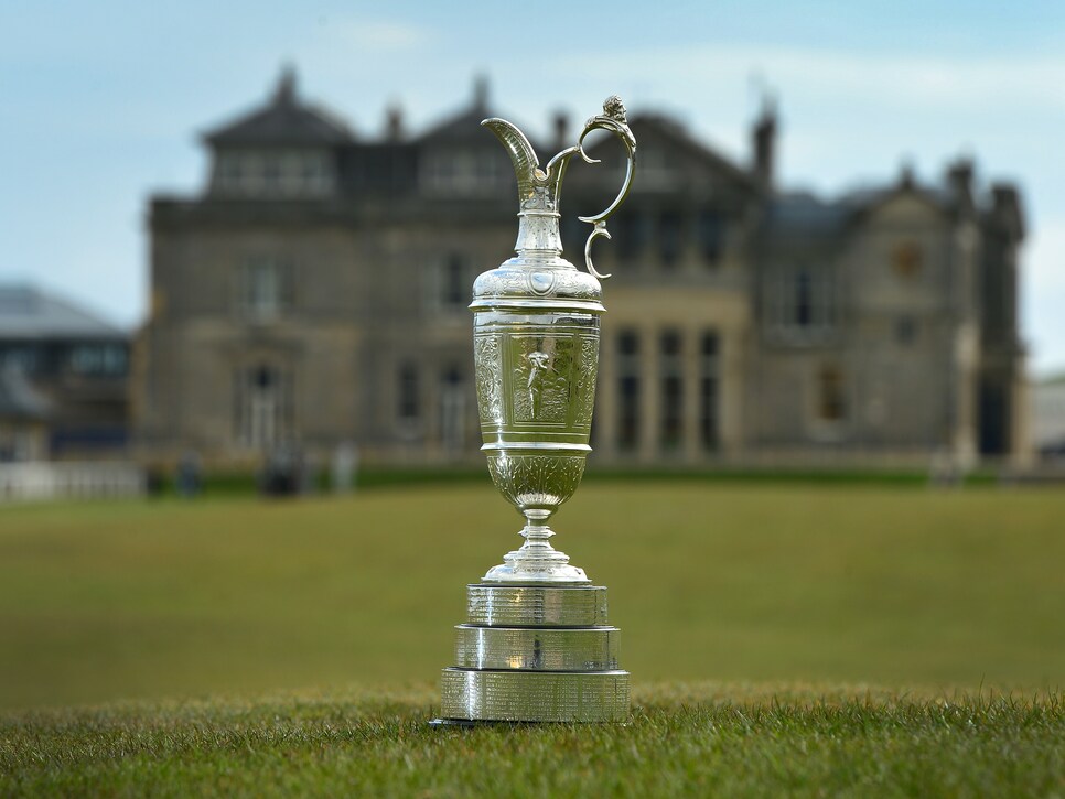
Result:
<svg viewBox="0 0 1065 799"><path fill-rule="evenodd" d="M1059 796L1065 697L675 685L627 726L430 730L430 690L0 716L0 793Z"/></svg>

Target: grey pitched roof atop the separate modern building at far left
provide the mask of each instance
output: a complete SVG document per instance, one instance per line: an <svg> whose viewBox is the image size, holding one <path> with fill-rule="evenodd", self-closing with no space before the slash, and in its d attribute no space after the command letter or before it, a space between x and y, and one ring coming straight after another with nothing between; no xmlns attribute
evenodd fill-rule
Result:
<svg viewBox="0 0 1065 799"><path fill-rule="evenodd" d="M31 285L0 285L0 339L114 338L127 334L93 313Z"/></svg>

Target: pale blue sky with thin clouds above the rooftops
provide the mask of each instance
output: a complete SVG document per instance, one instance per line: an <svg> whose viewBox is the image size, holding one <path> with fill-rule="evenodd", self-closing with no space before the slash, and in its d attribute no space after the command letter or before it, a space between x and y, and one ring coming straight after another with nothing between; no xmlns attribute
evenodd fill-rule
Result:
<svg viewBox="0 0 1065 799"><path fill-rule="evenodd" d="M545 133L620 94L733 161L766 88L779 184L826 197L938 182L959 155L1023 196L1022 325L1035 375L1065 370L1065 2L0 3L0 283L143 321L154 193L192 194L200 134L300 93L380 133L423 130L486 75L494 112ZM637 174L638 180L638 174Z"/></svg>

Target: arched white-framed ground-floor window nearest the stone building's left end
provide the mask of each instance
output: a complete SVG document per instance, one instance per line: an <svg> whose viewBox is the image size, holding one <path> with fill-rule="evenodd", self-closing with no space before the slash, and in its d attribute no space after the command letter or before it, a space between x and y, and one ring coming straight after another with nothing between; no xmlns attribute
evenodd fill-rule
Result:
<svg viewBox="0 0 1065 799"><path fill-rule="evenodd" d="M289 438L292 379L277 366L258 364L236 372L236 427L241 444L268 450Z"/></svg>

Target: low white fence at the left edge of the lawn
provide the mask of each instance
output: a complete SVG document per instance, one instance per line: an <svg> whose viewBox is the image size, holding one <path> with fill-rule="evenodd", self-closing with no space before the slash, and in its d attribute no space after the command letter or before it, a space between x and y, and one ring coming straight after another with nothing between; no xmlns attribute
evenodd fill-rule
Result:
<svg viewBox="0 0 1065 799"><path fill-rule="evenodd" d="M144 472L131 463L0 464L0 503L143 494Z"/></svg>

